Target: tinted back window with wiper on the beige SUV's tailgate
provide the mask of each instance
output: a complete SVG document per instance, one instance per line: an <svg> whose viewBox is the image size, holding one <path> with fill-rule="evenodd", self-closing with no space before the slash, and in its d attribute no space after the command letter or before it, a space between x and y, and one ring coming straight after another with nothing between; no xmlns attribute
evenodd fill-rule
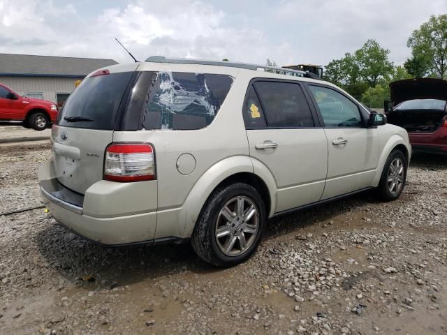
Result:
<svg viewBox="0 0 447 335"><path fill-rule="evenodd" d="M88 77L59 112L59 126L112 130L132 72Z"/></svg>

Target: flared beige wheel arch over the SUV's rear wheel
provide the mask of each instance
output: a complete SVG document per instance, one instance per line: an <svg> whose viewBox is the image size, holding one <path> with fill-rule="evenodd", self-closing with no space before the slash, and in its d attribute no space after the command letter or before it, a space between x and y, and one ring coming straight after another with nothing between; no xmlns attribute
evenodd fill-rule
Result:
<svg viewBox="0 0 447 335"><path fill-rule="evenodd" d="M213 191L235 182L254 186L261 193L266 212L271 216L276 204L276 192L271 185L272 180L271 177L270 181L266 181L263 176L254 173L249 156L233 156L212 165L194 184L179 211L179 234L182 237L190 237Z"/></svg>

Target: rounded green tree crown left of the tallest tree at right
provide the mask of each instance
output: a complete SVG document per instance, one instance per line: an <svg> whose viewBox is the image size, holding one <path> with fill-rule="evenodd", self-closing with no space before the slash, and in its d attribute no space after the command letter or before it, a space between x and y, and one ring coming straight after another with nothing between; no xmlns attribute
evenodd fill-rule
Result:
<svg viewBox="0 0 447 335"><path fill-rule="evenodd" d="M393 71L393 63L388 60L390 50L384 49L376 40L367 40L361 49L354 53L359 74L371 87L378 84L381 77Z"/></svg>

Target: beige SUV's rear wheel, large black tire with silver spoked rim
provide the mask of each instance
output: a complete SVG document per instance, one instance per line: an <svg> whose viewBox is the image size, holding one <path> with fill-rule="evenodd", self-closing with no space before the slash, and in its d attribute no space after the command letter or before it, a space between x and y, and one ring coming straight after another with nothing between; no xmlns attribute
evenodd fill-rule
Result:
<svg viewBox="0 0 447 335"><path fill-rule="evenodd" d="M210 195L191 244L205 262L231 267L253 255L266 223L265 205L258 191L249 184L231 184Z"/></svg>

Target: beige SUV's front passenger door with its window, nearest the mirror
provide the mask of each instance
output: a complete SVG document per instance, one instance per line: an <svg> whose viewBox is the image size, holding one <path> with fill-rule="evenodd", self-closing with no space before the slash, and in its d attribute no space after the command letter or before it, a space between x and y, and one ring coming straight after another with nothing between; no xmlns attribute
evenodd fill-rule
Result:
<svg viewBox="0 0 447 335"><path fill-rule="evenodd" d="M379 135L368 127L360 106L323 84L307 88L328 137L328 177L321 200L371 185L379 162Z"/></svg>

